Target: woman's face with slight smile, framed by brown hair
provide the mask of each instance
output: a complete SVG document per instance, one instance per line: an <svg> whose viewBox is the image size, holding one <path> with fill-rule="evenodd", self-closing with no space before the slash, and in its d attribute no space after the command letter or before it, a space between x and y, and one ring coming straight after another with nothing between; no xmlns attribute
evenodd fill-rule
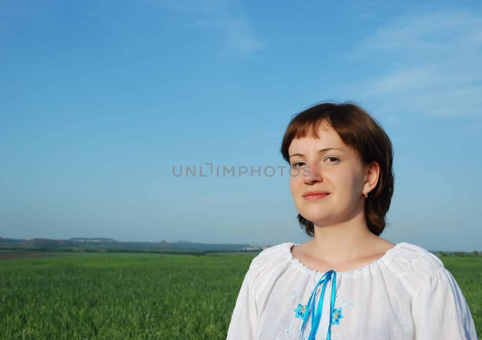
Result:
<svg viewBox="0 0 482 340"><path fill-rule="evenodd" d="M321 124L318 135L320 139L294 139L288 148L292 166L290 190L295 207L301 216L319 226L351 220L364 209L366 174L356 153L341 141L335 130ZM326 148L335 149L322 151ZM303 169L304 166L309 168ZM305 197L310 191L329 194Z"/></svg>

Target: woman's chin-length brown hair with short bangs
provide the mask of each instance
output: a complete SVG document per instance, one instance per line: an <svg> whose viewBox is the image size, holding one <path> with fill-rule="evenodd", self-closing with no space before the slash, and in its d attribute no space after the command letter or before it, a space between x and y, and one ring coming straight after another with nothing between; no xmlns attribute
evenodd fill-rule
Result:
<svg viewBox="0 0 482 340"><path fill-rule="evenodd" d="M322 122L338 133L344 144L354 150L362 166L376 161L380 166L378 183L365 199L365 218L368 229L379 236L386 225L386 214L393 195L395 175L392 170L393 149L390 138L380 123L353 102L325 102L294 115L281 142L281 155L290 164L288 148L296 138L320 138ZM291 164L290 164L291 165ZM313 237L314 223L298 214L298 222L308 236Z"/></svg>

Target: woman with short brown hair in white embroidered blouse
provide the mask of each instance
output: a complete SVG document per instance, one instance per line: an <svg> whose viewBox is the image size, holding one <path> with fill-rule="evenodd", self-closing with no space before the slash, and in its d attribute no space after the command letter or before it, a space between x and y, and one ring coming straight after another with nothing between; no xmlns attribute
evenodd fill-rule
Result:
<svg viewBox="0 0 482 340"><path fill-rule="evenodd" d="M291 120L281 154L298 221L312 238L254 258L227 340L477 339L442 262L379 237L393 195L393 151L374 118L350 103L315 105Z"/></svg>

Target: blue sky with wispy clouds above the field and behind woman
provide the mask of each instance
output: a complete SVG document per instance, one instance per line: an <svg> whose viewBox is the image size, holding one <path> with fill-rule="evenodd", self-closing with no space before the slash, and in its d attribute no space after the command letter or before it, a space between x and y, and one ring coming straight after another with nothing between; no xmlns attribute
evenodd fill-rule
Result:
<svg viewBox="0 0 482 340"><path fill-rule="evenodd" d="M394 146L382 237L482 250L481 7L2 1L0 236L304 242L263 169L292 115L354 100Z"/></svg>

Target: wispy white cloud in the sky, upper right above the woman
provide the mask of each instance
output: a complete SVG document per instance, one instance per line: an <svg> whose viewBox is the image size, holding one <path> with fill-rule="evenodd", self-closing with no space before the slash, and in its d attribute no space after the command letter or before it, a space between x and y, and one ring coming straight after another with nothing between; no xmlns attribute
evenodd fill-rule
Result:
<svg viewBox="0 0 482 340"><path fill-rule="evenodd" d="M458 11L401 16L362 39L351 54L394 66L349 88L423 115L481 115L481 47L481 15Z"/></svg>

